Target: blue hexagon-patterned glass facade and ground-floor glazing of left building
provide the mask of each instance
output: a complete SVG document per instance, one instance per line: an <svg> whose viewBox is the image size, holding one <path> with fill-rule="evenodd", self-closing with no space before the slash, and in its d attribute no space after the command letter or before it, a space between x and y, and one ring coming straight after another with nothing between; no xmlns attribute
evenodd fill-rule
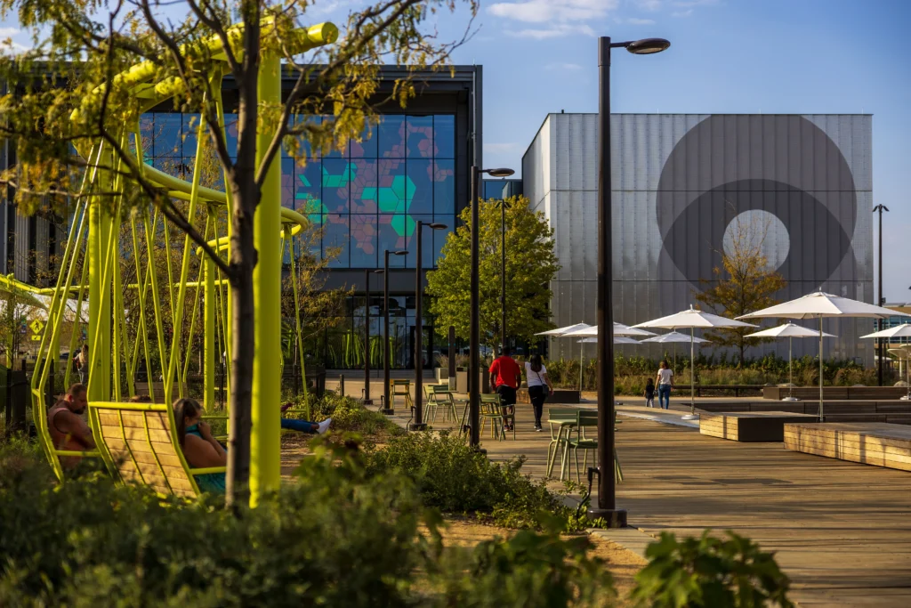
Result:
<svg viewBox="0 0 911 608"><path fill-rule="evenodd" d="M191 175L199 116L175 112L143 115L145 161L159 170ZM237 150L237 115L227 114L230 153ZM319 121L320 117L295 117ZM390 266L414 268L416 222L442 222L443 231L426 230L425 269L435 267L449 232L455 227L455 116L384 115L377 127L351 141L343 152L320 156L307 150L305 164L282 152L281 204L322 226L319 256L330 256L331 269L374 269L383 266L384 250L405 249ZM287 254L286 254L287 257ZM286 263L288 260L286 260ZM370 353L374 368L383 364L382 281L374 277L371 298L371 344L364 345L363 295L349 298L338 324L312 336L306 353L327 368L358 368ZM425 311L428 309L425 304ZM433 361L433 320L424 322L425 365ZM396 368L414 366L415 302L396 295L390 302L390 348Z"/></svg>

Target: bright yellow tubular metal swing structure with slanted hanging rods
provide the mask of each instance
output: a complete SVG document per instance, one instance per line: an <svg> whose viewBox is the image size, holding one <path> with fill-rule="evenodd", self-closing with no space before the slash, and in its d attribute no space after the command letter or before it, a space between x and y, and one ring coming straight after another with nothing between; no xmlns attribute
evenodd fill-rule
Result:
<svg viewBox="0 0 911 608"><path fill-rule="evenodd" d="M241 40L242 26L229 29L229 44ZM271 24L264 23L261 36L271 36ZM287 35L284 51L297 55L317 46L333 43L338 29L331 23L293 30ZM204 44L214 57L222 49L218 37ZM223 55L222 55L223 57ZM121 402L137 394L137 376L141 370L147 378L148 394L155 380L163 384L164 403L184 397L193 349L202 350L203 401L208 413L216 407L216 361L220 353L231 355L230 300L227 282L219 267L193 246L184 235L179 248L171 225L159 210L125 212L123 205L125 162L138 166L145 179L166 189L172 199L181 201L186 217L220 255L227 255L230 240L230 191L208 188L201 183L204 121L196 126L197 149L192 175L181 180L166 171L143 162L143 145L139 117L143 112L174 98L182 82L170 78L155 81L156 67L150 62L138 64L114 77L112 87L126 90L135 99L132 118L118 134L120 148L129 150L127 159L115 154L102 139L77 149L87 160L80 186L80 196L73 214L72 227L63 252L56 285L48 294L47 329L38 350L32 378L32 403L38 437L56 475L62 479L60 456L51 444L46 410L53 404L45 401L51 362L58 358L65 316L81 318L88 309L88 399L92 402ZM218 108L219 129L225 133L225 113L220 98L220 73L212 76L212 96ZM104 87L94 95L100 97ZM262 102L281 103L281 57L261 57L259 96ZM91 104L96 99L87 98ZM80 110L76 110L78 113ZM257 164L261 162L277 125L268 124L258 133ZM109 168L113 167L113 170ZM225 182L227 182L227 176ZM107 196L114 192L113 201ZM254 244L258 263L253 274L256 328L253 369L253 405L251 438L251 495L258 498L277 489L280 479L280 403L281 398L281 260L286 247L291 249L292 278L296 281L292 238L307 225L300 213L281 207L281 168L271 163L262 186L261 203L254 217ZM104 196L103 196L104 195ZM105 198L106 197L106 198ZM104 200L104 204L102 201ZM164 261L161 261L164 252ZM159 255L156 255L158 253ZM193 270L195 269L195 276ZM14 283L0 283L0 291ZM21 284L15 285L19 289ZM293 285L295 301L297 285ZM29 294L25 289L23 294ZM127 301L128 300L128 301ZM45 305L36 299L38 305ZM73 311L73 304L76 310ZM202 307L202 326L196 319ZM300 365L303 367L301 321L295 306L295 329ZM76 352L77 332L70 332L69 352ZM197 353L198 354L198 353ZM67 366L66 384L70 383ZM227 377L230 386L230 375ZM147 429L148 430L148 429ZM95 429L97 432L97 429Z"/></svg>

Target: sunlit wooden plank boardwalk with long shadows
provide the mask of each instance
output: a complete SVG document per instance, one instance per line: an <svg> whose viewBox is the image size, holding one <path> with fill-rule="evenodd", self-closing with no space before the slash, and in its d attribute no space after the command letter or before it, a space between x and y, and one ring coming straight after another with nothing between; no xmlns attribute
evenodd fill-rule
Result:
<svg viewBox="0 0 911 608"><path fill-rule="evenodd" d="M531 430L530 410L518 408L516 441L482 443L493 460L525 454L526 472L540 478L549 434ZM653 536L731 529L758 541L776 551L801 605L911 606L911 473L619 419L618 502L631 526Z"/></svg>

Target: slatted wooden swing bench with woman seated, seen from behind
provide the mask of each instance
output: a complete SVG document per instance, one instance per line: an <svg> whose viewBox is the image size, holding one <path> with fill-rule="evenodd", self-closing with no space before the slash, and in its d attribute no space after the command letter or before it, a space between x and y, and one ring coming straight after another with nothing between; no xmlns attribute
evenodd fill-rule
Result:
<svg viewBox="0 0 911 608"><path fill-rule="evenodd" d="M225 472L224 467L189 468L178 444L170 406L89 402L88 417L111 474L146 485L159 496L196 498L200 488L194 475Z"/></svg>

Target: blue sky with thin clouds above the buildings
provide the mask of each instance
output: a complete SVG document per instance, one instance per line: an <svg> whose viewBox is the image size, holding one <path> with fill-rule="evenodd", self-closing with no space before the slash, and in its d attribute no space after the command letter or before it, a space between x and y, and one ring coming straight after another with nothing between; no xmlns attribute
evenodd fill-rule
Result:
<svg viewBox="0 0 911 608"><path fill-rule="evenodd" d="M315 0L312 15L343 24L363 4ZM469 16L463 5L455 15L437 15L433 25L441 40L452 40ZM671 43L650 57L615 52L614 112L872 114L874 205L890 210L884 295L908 302L909 26L907 0L482 1L473 36L454 59L484 66L488 167L520 169L548 112L598 110L597 36ZM0 22L0 39L7 36L28 42L15 19Z"/></svg>

